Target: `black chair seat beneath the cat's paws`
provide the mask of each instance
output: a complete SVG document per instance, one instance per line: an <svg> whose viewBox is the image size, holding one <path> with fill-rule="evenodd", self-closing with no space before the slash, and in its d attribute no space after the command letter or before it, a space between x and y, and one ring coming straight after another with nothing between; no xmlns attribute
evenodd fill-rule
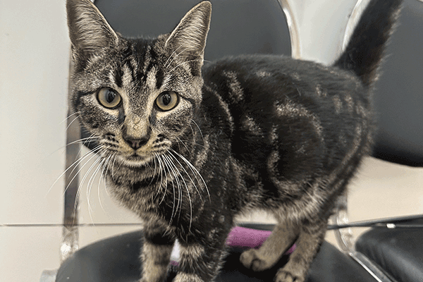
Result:
<svg viewBox="0 0 423 282"><path fill-rule="evenodd" d="M248 225L248 228L271 230L271 225ZM139 253L142 231L125 233L101 240L75 252L61 265L56 282L135 282L140 276ZM226 263L216 278L220 281L273 281L278 268L287 262L283 256L272 269L255 273L240 264L241 247L231 247ZM168 281L175 276L171 271ZM309 270L307 282L374 282L359 264L324 242Z"/></svg>

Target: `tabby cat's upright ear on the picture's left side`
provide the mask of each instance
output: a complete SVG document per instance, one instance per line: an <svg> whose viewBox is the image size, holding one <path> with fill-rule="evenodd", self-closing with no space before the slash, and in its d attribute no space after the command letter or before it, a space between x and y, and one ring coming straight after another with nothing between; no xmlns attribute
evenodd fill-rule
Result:
<svg viewBox="0 0 423 282"><path fill-rule="evenodd" d="M66 11L74 53L89 57L117 44L118 35L90 0L67 0Z"/></svg>

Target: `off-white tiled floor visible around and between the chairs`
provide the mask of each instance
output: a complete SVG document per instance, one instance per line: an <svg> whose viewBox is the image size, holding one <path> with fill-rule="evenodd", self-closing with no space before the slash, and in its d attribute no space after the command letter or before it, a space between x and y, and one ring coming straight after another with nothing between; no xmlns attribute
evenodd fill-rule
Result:
<svg viewBox="0 0 423 282"><path fill-rule="evenodd" d="M63 214L69 64L64 2L0 1L0 281L37 282L43 270L60 264L61 227L39 224L59 225ZM310 56L317 55L314 50ZM138 221L107 195L94 162L81 171L87 177L80 223L94 226L80 228L80 246L139 228L99 226ZM422 214L422 191L422 168L367 158L350 185L350 220ZM273 222L263 214L240 220ZM327 239L336 244L331 233Z"/></svg>

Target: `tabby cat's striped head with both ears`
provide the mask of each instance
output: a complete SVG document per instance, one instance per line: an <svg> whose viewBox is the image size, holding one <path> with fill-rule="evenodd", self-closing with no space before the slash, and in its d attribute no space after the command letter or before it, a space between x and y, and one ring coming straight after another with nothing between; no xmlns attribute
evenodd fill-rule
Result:
<svg viewBox="0 0 423 282"><path fill-rule="evenodd" d="M125 39L90 0L68 0L71 109L102 157L142 166L191 129L202 101L211 4L204 1L173 32Z"/></svg>

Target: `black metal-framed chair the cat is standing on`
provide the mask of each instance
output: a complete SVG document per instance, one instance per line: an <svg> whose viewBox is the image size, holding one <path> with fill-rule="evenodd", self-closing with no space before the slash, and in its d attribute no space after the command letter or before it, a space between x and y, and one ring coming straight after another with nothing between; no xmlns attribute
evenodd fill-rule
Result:
<svg viewBox="0 0 423 282"><path fill-rule="evenodd" d="M197 3L195 0L182 3L169 1L169 6L163 9L163 4L159 1L141 2L136 0L98 0L96 4L114 29L126 36L136 36L140 34L158 35L171 30L180 17ZM216 0L212 3L214 11L212 28L205 51L206 60L242 53L297 54L300 56L298 30L295 30L295 15L291 14L292 10L290 10L288 1ZM283 15L282 7L283 11L287 13L286 16ZM235 11L242 13L235 13ZM144 14L141 16L142 12ZM137 16L130 16L131 13ZM157 20L151 15L161 15L166 20ZM233 30L227 30L227 20L233 18L234 15L237 19L233 24ZM287 23L286 18L289 19L288 23L290 24ZM260 19L260 26L253 24L252 19ZM225 32L221 32L222 30ZM250 37L254 37L255 40L251 41ZM71 125L68 131L68 142L79 139L78 127ZM85 133L81 134L84 137ZM87 146L90 147L90 144ZM78 146L69 147L68 151L76 154ZM75 158L69 157L69 160L71 159ZM67 164L71 165L69 162ZM68 174L70 175L69 179L78 178L73 175L72 171L68 171ZM71 184L66 193L62 253L63 259L66 257L67 259L61 265L56 281L136 281L140 273L138 251L140 250L139 239L142 231L101 240L76 251L78 249L78 225L76 224L78 223L78 214L74 209L78 204L75 202L76 190L77 188L72 187ZM346 208L346 205L341 207ZM341 209L338 214L341 216L338 222L341 222L342 216L345 215L345 209ZM272 226L257 224L245 227L264 231L272 228ZM339 235L343 242L347 242L347 237L348 232ZM350 243L344 244L343 248L350 254L354 253L350 249ZM268 271L269 274L258 276L248 271L240 271L239 255L241 251L242 247L239 246L231 249L217 281L261 281L260 277L273 277L274 271L284 261L284 258L281 259L274 269ZM383 281L380 278L377 278L379 280L375 279L374 276L377 276L377 273L369 273L369 269L362 268L360 265L362 262L358 264L356 261L360 261L360 258L346 255L325 242L312 264L307 281Z"/></svg>

